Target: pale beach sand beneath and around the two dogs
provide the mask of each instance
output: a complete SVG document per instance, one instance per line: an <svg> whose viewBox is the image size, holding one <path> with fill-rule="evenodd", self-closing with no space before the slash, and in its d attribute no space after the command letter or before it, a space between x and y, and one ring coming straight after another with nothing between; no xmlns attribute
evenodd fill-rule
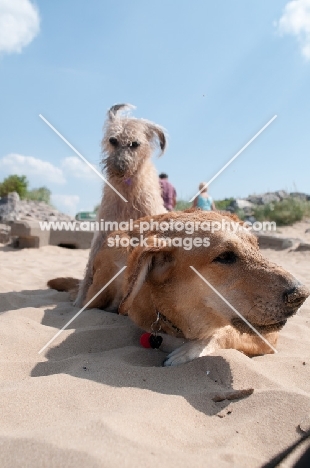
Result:
<svg viewBox="0 0 310 468"><path fill-rule="evenodd" d="M310 252L264 254L310 287ZM163 368L165 354L141 348L127 317L99 310L38 354L77 312L46 281L81 277L87 256L0 248L1 467L251 468L299 437L310 412L309 299L276 355L225 350ZM254 393L212 400L244 388Z"/></svg>

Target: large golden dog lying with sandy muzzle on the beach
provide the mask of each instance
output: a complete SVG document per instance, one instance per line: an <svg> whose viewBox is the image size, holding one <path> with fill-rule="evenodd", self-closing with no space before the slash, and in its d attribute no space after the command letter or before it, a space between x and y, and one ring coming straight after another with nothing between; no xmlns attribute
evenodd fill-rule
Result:
<svg viewBox="0 0 310 468"><path fill-rule="evenodd" d="M165 365L223 348L247 355L272 353L191 267L272 346L286 319L309 295L290 273L262 257L256 237L238 218L189 210L145 217L134 222L133 230L111 233L95 257L84 304L118 310L146 331L171 335L163 335L161 349L177 349ZM48 285L76 294L78 280L57 278Z"/></svg>

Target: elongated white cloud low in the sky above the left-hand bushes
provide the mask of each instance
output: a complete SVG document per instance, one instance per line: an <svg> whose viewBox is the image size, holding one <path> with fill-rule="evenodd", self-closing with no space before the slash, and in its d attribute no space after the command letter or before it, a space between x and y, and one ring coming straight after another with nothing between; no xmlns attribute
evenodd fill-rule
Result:
<svg viewBox="0 0 310 468"><path fill-rule="evenodd" d="M42 185L46 182L66 182L61 169L33 156L10 153L0 159L0 167L11 174L40 177Z"/></svg>

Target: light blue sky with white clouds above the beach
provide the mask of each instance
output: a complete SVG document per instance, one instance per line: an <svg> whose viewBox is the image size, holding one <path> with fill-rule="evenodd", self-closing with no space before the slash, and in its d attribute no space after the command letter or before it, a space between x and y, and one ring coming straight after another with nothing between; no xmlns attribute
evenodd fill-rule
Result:
<svg viewBox="0 0 310 468"><path fill-rule="evenodd" d="M179 198L275 114L210 193L310 193L309 31L310 0L0 0L0 179L25 174L60 210L92 209L102 181L39 114L98 165L106 111L128 102L167 129L153 161Z"/></svg>

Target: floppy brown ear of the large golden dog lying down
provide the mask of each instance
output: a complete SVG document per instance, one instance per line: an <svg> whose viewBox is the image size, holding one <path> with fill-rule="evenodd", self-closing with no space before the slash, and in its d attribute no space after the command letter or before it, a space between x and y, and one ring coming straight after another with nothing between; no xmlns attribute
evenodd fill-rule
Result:
<svg viewBox="0 0 310 468"><path fill-rule="evenodd" d="M175 264L171 247L137 247L128 258L127 281L118 312L126 315L142 285L146 281L164 283Z"/></svg>

